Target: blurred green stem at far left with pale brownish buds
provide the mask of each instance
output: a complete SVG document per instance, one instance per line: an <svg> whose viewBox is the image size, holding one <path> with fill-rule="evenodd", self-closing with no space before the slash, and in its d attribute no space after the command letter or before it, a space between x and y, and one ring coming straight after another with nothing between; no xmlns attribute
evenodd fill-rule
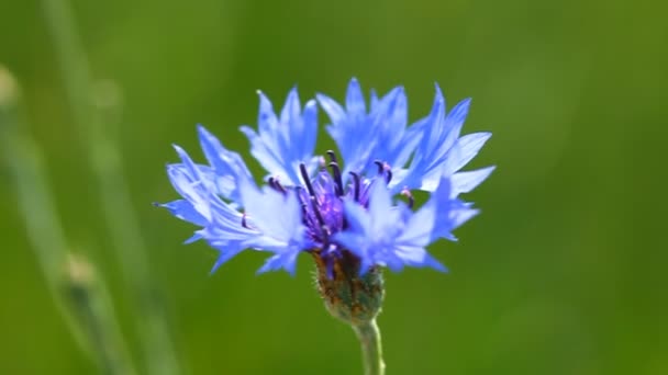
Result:
<svg viewBox="0 0 668 375"><path fill-rule="evenodd" d="M45 179L42 155L32 139L22 135L25 130L18 114L18 91L13 78L0 66L0 147L13 174L19 211L48 289L76 341L98 356L105 374L136 374L101 281L92 283L92 273L84 271L82 262L68 261L69 246Z"/></svg>

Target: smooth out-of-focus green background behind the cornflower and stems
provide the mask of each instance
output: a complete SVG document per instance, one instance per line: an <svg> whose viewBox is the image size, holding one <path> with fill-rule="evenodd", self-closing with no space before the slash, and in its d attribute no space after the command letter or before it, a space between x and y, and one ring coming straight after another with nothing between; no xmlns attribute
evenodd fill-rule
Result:
<svg viewBox="0 0 668 375"><path fill-rule="evenodd" d="M472 96L465 133L493 137L471 168L498 166L467 196L482 215L457 231L458 243L431 249L449 274L387 274L388 374L668 374L664 3L71 2L92 77L119 90L104 137L120 148L185 373L361 373L356 338L314 289L311 259L294 279L255 276L257 253L209 275L215 252L182 246L193 228L151 205L177 196L164 171L177 160L172 143L202 160L196 123L249 157L237 126L255 125L257 89L276 106L293 84L304 100L343 99L355 76L381 92L404 84L412 121L428 111L433 82L449 105ZM23 88L21 132L42 149L67 239L104 276L144 374L141 312L42 7L0 2L0 64ZM0 373L96 373L29 245L8 159Z"/></svg>

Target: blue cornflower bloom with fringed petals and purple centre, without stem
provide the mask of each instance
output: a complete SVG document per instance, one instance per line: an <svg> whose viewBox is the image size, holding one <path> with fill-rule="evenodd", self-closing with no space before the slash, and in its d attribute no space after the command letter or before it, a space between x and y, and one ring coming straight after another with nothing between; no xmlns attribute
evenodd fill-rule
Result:
<svg viewBox="0 0 668 375"><path fill-rule="evenodd" d="M175 146L181 161L167 166L182 198L162 206L200 227L190 240L203 239L220 252L213 270L252 249L270 254L259 272L294 273L298 255L307 252L324 295L332 294L329 281L364 279L379 266L445 271L425 248L439 238L455 240L452 231L478 213L458 195L493 170L459 171L490 137L460 136L469 100L446 113L436 87L428 115L409 126L401 87L381 98L372 93L369 109L355 79L345 107L322 94L302 107L292 89L279 115L259 96L257 132L241 129L267 171L261 186L240 155L203 126L198 133L208 162L196 163ZM331 120L327 132L338 148L326 157L314 151L318 104ZM420 208L414 190L430 193Z"/></svg>

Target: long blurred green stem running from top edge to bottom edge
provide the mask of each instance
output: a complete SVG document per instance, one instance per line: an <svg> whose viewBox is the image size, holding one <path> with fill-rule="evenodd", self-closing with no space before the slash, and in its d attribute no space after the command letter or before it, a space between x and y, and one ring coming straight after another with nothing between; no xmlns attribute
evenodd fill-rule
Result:
<svg viewBox="0 0 668 375"><path fill-rule="evenodd" d="M82 137L81 141L87 147L91 169L98 179L102 209L121 270L138 305L136 325L148 374L179 374L180 366L170 340L162 298L153 285L138 219L122 172L121 155L103 126L107 124L101 118L101 112L93 103L94 92L88 61L69 4L65 0L43 0L42 5L69 106Z"/></svg>

